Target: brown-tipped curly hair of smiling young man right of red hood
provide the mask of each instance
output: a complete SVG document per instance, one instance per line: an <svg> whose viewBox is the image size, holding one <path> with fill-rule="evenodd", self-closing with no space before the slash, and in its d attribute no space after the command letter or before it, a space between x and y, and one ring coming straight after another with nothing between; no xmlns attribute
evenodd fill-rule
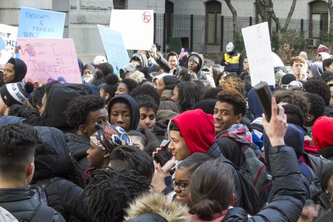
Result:
<svg viewBox="0 0 333 222"><path fill-rule="evenodd" d="M246 100L242 94L235 90L223 90L217 96L217 100L220 103L228 103L233 106L234 115L242 114L246 112Z"/></svg>

